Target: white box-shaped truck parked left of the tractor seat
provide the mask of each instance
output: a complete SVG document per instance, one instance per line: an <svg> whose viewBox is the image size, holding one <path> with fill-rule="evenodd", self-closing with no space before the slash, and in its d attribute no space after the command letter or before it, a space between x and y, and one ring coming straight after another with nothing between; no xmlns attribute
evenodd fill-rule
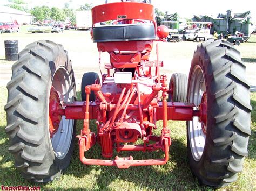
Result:
<svg viewBox="0 0 256 191"><path fill-rule="evenodd" d="M92 27L91 11L76 11L76 28L78 30L89 30Z"/></svg>

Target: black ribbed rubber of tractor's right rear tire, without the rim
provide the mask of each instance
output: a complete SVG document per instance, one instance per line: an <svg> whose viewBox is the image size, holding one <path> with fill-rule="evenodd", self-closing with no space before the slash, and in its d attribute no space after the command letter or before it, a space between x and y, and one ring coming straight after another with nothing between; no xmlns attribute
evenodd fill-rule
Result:
<svg viewBox="0 0 256 191"><path fill-rule="evenodd" d="M200 58L204 58L203 63L198 61ZM242 171L242 163L248 155L252 111L250 84L239 51L226 41L211 39L199 45L194 52L190 75L196 64L205 67L205 83L211 88L207 102L211 104L209 120L214 130L207 129L207 134L210 133L206 139L208 147L204 150L207 153L203 153L199 162L194 161L188 149L190 166L201 182L223 187L237 180L237 173Z"/></svg>

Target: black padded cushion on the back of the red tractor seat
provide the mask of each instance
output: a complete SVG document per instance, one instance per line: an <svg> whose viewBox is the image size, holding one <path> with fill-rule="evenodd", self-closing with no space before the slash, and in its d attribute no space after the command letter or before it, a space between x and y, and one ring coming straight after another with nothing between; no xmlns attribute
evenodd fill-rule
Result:
<svg viewBox="0 0 256 191"><path fill-rule="evenodd" d="M148 23L93 27L93 41L95 43L154 39L156 39L154 25Z"/></svg>

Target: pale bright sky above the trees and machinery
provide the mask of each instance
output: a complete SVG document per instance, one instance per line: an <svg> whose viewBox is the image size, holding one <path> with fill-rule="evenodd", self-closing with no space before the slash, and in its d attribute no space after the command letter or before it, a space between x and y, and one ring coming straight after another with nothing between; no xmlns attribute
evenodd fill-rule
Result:
<svg viewBox="0 0 256 191"><path fill-rule="evenodd" d="M28 2L29 6L57 6L59 8L64 7L64 4L68 2L70 8L79 8L80 5L85 3L92 3L93 5L99 5L105 3L105 0L23 0ZM0 0L0 5L8 2L8 0ZM118 2L118 0L108 0L111 2ZM256 23L256 6L255 0L247 0L243 3L238 0L152 0L152 4L160 11L168 11L169 13L177 12L180 17L192 18L193 15L213 15L218 16L218 13L225 14L228 9L232 10L232 13L243 13L251 11L251 17L253 22ZM250 6L251 5L251 6Z"/></svg>

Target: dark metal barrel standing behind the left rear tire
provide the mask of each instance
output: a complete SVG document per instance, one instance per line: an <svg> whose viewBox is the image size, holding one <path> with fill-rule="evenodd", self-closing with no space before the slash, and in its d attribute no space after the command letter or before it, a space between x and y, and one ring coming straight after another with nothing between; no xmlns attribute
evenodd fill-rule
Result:
<svg viewBox="0 0 256 191"><path fill-rule="evenodd" d="M15 61L19 58L18 40L5 40L5 60Z"/></svg>

